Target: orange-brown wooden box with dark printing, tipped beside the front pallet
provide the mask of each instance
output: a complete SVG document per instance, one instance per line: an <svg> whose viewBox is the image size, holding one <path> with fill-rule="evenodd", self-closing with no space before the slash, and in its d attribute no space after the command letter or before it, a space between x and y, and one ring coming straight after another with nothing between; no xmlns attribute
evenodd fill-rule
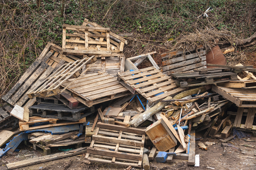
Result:
<svg viewBox="0 0 256 170"><path fill-rule="evenodd" d="M158 151L167 151L177 145L177 140L163 119L147 127L146 134Z"/></svg>

